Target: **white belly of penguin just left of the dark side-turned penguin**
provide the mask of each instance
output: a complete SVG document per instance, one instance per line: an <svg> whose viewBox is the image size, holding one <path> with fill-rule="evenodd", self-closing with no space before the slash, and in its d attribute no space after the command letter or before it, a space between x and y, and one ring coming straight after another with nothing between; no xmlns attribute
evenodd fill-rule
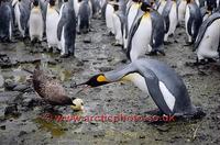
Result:
<svg viewBox="0 0 220 145"><path fill-rule="evenodd" d="M57 47L58 38L57 38L57 25L58 25L58 13L55 10L50 11L46 15L46 37L48 47Z"/></svg>

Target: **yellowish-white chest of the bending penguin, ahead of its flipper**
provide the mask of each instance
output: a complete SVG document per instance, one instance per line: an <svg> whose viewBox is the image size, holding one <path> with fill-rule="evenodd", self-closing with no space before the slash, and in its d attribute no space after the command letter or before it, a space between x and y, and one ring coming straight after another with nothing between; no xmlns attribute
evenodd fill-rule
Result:
<svg viewBox="0 0 220 145"><path fill-rule="evenodd" d="M132 81L136 87L139 87L139 89L141 89L143 92L146 92L147 94L150 94L145 79L140 74L138 74L138 72L129 74L125 77L123 77L122 80Z"/></svg>

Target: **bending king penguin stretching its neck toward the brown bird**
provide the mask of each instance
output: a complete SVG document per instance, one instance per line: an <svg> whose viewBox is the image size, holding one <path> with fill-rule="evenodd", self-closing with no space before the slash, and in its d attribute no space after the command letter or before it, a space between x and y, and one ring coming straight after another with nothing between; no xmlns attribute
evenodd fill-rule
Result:
<svg viewBox="0 0 220 145"><path fill-rule="evenodd" d="M117 81L133 82L152 97L163 114L185 118L204 115L201 109L191 103L182 78L167 65L155 59L136 59L117 70L98 74L76 87L92 88Z"/></svg>

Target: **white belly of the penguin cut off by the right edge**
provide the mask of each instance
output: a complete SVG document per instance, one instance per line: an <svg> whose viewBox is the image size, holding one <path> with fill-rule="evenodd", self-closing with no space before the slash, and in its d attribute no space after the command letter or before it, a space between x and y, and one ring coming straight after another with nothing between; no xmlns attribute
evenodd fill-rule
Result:
<svg viewBox="0 0 220 145"><path fill-rule="evenodd" d="M220 30L220 19L216 20L207 27L197 49L198 59L219 57L218 46L220 43L220 31L217 30Z"/></svg>

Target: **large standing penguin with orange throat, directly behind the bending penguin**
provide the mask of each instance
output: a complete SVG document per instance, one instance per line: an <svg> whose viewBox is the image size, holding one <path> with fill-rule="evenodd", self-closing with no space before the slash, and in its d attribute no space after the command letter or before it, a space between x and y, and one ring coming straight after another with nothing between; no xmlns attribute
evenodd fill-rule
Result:
<svg viewBox="0 0 220 145"><path fill-rule="evenodd" d="M128 38L127 56L132 62L145 52L150 54L162 53L164 40L163 18L151 9L146 2L142 2L141 12L134 20Z"/></svg>

